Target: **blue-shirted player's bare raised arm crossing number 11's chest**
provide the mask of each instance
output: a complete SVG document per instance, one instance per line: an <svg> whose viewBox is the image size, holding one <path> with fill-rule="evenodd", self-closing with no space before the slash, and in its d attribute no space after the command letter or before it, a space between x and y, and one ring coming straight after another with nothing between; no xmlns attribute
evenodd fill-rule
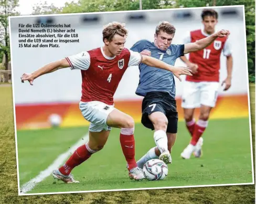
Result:
<svg viewBox="0 0 256 204"><path fill-rule="evenodd" d="M189 52L195 52L208 47L216 38L228 37L229 30L220 30L215 34L210 35L207 38L200 39L196 42L190 42L184 45L184 54Z"/></svg>

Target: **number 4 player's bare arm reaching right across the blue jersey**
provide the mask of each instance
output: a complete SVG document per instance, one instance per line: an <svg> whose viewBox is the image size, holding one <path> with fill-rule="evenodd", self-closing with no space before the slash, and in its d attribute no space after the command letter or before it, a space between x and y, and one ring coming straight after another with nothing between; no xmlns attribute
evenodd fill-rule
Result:
<svg viewBox="0 0 256 204"><path fill-rule="evenodd" d="M150 67L156 67L156 68L160 68L160 69L165 69L168 71L173 72L174 76L177 77L180 81L182 81L182 79L180 78L180 75L189 75L192 76L191 74L191 70L185 67L174 67L171 65L168 65L167 63L155 59L153 57L149 57L149 56L144 56L142 55L142 63L144 63L147 66Z"/></svg>

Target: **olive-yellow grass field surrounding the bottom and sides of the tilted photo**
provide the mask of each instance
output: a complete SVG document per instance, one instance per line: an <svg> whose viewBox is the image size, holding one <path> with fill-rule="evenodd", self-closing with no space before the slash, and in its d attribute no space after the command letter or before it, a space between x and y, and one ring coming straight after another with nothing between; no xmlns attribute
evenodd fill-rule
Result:
<svg viewBox="0 0 256 204"><path fill-rule="evenodd" d="M255 84L250 85L252 127L255 124ZM109 204L109 203L255 203L255 185L200 187L186 189L133 190L18 196L12 88L0 87L0 203L55 203L55 204ZM252 132L253 149L255 132ZM241 135L242 137L243 135ZM179 135L179 137L181 137ZM184 135L184 137L188 137ZM179 140L179 138L178 138ZM175 148L176 148L175 144ZM205 144L206 145L206 144ZM137 146L136 146L137 147ZM104 150L104 149L103 149ZM102 151L103 151L102 150ZM255 153L255 151L254 151ZM100 154L100 153L99 153ZM205 153L206 154L206 153ZM204 157L206 156L204 154ZM139 156L139 155L137 155ZM44 157L44 155L42 155ZM178 158L176 159L178 161ZM89 160L88 160L89 161ZM48 164L47 164L48 165Z"/></svg>

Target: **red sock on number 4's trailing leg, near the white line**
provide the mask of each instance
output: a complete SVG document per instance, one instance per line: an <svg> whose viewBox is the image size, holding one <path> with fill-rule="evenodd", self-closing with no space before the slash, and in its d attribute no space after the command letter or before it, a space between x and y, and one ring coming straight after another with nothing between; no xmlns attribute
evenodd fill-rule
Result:
<svg viewBox="0 0 256 204"><path fill-rule="evenodd" d="M84 161L89 159L93 153L97 151L94 151L88 146L88 143L86 145L82 145L74 151L74 153L69 157L67 162L59 168L59 171L61 174L69 175L71 170L82 164Z"/></svg>

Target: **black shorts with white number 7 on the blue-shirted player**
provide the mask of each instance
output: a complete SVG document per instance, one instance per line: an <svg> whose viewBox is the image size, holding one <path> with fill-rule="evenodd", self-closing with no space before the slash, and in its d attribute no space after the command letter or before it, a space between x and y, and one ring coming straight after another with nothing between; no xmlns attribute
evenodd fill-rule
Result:
<svg viewBox="0 0 256 204"><path fill-rule="evenodd" d="M148 92L142 101L141 123L151 130L154 126L148 115L154 112L162 112L168 119L167 133L177 133L178 130L178 112L176 109L176 100L166 92Z"/></svg>

